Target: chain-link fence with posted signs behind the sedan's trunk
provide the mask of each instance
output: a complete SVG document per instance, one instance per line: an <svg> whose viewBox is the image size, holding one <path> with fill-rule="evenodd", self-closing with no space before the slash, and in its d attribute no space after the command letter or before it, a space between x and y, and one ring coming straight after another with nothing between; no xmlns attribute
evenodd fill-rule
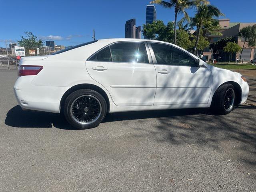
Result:
<svg viewBox="0 0 256 192"><path fill-rule="evenodd" d="M6 42L5 47L0 47L0 70L18 69L22 56L49 55L50 47L23 47L16 42Z"/></svg>

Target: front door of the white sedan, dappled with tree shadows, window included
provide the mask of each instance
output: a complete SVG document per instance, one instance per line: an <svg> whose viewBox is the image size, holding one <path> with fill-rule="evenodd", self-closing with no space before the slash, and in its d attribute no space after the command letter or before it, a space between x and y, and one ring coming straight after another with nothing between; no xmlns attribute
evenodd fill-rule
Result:
<svg viewBox="0 0 256 192"><path fill-rule="evenodd" d="M212 73L185 51L168 44L149 43L156 68L154 105L208 103Z"/></svg>

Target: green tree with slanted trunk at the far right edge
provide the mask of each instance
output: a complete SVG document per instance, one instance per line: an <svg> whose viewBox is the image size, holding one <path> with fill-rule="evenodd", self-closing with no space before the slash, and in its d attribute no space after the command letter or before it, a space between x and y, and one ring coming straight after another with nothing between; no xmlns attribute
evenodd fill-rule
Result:
<svg viewBox="0 0 256 192"><path fill-rule="evenodd" d="M256 26L254 25L254 26L247 26L242 28L238 34L238 37L244 40L244 44L240 54L240 59L241 59L244 48L256 46Z"/></svg>

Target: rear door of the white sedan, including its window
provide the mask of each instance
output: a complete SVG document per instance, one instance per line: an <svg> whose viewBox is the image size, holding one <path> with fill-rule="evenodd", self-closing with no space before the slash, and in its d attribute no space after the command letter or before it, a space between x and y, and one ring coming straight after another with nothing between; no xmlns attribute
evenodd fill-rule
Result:
<svg viewBox="0 0 256 192"><path fill-rule="evenodd" d="M144 42L117 42L91 56L86 68L117 106L153 105L156 70L147 50Z"/></svg>

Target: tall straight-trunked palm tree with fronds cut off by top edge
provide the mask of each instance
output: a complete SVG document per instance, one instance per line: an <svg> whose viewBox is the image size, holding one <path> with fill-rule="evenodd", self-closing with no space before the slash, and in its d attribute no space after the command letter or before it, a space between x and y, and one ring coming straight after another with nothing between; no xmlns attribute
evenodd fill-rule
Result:
<svg viewBox="0 0 256 192"><path fill-rule="evenodd" d="M199 6L200 4L209 4L208 0L170 0L170 2L162 0L151 1L150 4L160 4L164 8L174 7L175 20L174 20L174 44L176 44L176 27L177 27L177 16L178 14L184 14L184 17L189 20L188 13L186 9L192 8L194 6Z"/></svg>

